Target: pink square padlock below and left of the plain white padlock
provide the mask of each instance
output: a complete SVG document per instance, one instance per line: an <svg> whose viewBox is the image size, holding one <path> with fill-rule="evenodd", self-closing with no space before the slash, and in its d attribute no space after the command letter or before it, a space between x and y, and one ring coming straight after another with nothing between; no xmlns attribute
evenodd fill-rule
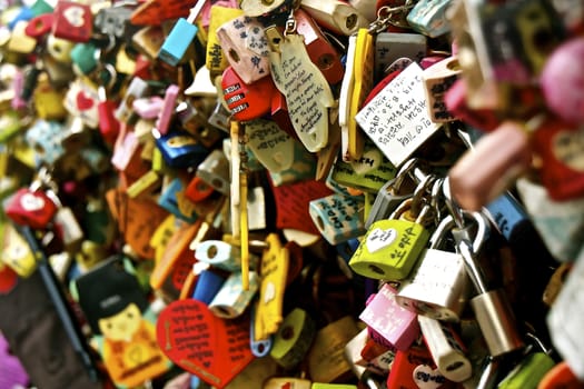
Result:
<svg viewBox="0 0 584 389"><path fill-rule="evenodd" d="M369 337L390 350L407 350L419 337L416 313L395 301L396 290L385 283L372 295L359 315L367 325Z"/></svg>

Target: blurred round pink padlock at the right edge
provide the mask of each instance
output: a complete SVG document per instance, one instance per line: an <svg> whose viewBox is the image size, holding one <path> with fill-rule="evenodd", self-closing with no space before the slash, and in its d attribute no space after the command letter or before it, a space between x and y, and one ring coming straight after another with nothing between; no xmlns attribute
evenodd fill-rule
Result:
<svg viewBox="0 0 584 389"><path fill-rule="evenodd" d="M547 59L541 76L551 111L572 123L584 123L584 38L560 46Z"/></svg>

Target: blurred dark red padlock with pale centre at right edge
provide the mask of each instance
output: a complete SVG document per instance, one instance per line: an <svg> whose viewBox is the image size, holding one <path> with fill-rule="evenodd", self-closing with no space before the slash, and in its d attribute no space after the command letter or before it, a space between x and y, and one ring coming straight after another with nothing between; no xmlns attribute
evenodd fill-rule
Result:
<svg viewBox="0 0 584 389"><path fill-rule="evenodd" d="M540 174L550 197L556 201L584 194L584 126L557 118L548 120L533 136L542 158Z"/></svg>

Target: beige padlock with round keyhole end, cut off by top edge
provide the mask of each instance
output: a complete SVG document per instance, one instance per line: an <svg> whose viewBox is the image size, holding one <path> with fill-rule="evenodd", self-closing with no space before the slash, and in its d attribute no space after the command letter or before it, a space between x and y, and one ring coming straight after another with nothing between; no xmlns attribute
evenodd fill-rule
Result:
<svg viewBox="0 0 584 389"><path fill-rule="evenodd" d="M369 24L368 20L347 2L303 0L300 7L319 26L339 36L349 37L359 28L366 28Z"/></svg>

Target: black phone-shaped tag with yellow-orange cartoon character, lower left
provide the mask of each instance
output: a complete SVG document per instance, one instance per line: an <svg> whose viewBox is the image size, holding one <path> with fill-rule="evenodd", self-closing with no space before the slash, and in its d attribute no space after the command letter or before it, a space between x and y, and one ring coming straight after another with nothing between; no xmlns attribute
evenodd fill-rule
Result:
<svg viewBox="0 0 584 389"><path fill-rule="evenodd" d="M75 281L78 301L111 380L136 387L171 367L156 337L156 318L129 261L112 257Z"/></svg>

